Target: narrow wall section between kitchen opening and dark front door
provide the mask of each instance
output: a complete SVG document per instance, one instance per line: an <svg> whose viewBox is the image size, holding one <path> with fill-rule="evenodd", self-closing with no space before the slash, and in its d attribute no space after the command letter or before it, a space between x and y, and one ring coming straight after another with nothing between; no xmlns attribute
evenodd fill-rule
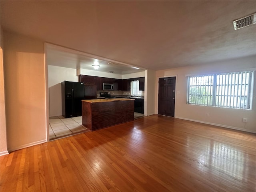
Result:
<svg viewBox="0 0 256 192"><path fill-rule="evenodd" d="M145 109L146 116L155 114L155 82L156 82L156 71L146 70L145 71Z"/></svg>

